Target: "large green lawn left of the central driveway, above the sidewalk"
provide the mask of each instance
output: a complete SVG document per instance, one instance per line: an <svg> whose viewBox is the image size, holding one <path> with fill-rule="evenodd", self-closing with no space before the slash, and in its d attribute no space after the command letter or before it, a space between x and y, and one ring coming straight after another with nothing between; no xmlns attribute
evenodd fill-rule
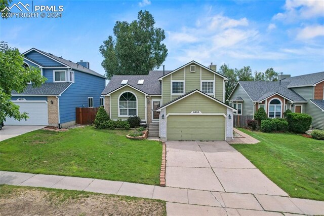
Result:
<svg viewBox="0 0 324 216"><path fill-rule="evenodd" d="M36 130L0 142L0 169L159 185L162 146L129 131Z"/></svg>

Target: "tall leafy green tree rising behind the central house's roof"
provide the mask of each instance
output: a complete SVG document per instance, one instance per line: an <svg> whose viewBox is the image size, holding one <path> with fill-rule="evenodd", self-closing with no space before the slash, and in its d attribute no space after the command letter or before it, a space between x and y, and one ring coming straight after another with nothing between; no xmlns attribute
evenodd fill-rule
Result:
<svg viewBox="0 0 324 216"><path fill-rule="evenodd" d="M103 42L99 51L103 56L101 65L106 76L147 75L166 59L168 49L165 32L154 27L155 21L148 11L139 11L137 20L131 23L117 21L113 33Z"/></svg>

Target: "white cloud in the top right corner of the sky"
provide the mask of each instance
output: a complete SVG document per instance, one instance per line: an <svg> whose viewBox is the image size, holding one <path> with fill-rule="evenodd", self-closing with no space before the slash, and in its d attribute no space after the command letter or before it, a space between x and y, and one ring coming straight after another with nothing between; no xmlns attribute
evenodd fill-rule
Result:
<svg viewBox="0 0 324 216"><path fill-rule="evenodd" d="M285 12L273 16L273 20L296 22L324 16L324 1L318 0L286 0Z"/></svg>

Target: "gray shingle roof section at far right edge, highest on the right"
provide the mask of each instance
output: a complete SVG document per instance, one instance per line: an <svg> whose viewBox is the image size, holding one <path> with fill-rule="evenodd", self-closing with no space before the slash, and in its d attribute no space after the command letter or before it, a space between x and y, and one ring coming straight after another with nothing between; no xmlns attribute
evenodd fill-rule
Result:
<svg viewBox="0 0 324 216"><path fill-rule="evenodd" d="M296 87L296 86L307 86L318 83L319 81L324 80L324 71L314 74L306 74L297 77L291 77L289 79L285 79L290 81L288 88Z"/></svg>

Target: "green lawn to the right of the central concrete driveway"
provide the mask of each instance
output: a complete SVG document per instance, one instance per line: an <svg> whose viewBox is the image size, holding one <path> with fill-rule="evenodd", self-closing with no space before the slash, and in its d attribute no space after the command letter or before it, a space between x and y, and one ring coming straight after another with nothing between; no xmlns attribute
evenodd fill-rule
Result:
<svg viewBox="0 0 324 216"><path fill-rule="evenodd" d="M324 141L293 133L239 130L255 145L231 145L292 197L324 200Z"/></svg>

